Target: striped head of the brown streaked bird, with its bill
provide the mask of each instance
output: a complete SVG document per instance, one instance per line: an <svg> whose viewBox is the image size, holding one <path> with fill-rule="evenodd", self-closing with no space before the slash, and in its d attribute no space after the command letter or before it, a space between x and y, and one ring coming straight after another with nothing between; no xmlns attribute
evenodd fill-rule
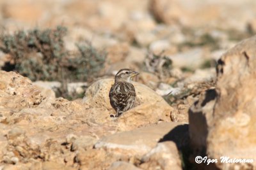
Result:
<svg viewBox="0 0 256 170"><path fill-rule="evenodd" d="M132 71L131 69L120 69L120 71L116 73L115 81L127 81L131 83L131 79L138 74L138 72Z"/></svg>

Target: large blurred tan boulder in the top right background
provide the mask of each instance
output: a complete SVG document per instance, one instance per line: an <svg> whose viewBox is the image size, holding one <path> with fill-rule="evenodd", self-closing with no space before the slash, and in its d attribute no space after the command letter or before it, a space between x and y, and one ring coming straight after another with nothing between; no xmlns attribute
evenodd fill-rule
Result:
<svg viewBox="0 0 256 170"><path fill-rule="evenodd" d="M255 15L255 1L221 0L151 0L154 17L165 24L183 24L189 27L211 27L244 30ZM244 12L241 9L246 9ZM236 20L234 20L236 18Z"/></svg>

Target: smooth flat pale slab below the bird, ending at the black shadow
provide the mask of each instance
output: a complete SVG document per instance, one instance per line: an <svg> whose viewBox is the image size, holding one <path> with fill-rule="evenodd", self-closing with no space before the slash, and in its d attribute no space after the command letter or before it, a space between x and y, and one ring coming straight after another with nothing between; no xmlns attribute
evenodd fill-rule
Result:
<svg viewBox="0 0 256 170"><path fill-rule="evenodd" d="M141 156L154 148L164 135L168 134L168 132L175 129L178 125L182 124L177 122L163 122L158 125L150 125L132 131L120 132L100 139L95 144L95 148L106 148L107 150L114 150L118 153L125 153L125 155ZM181 138L181 136L186 134L185 130L176 133L175 137L172 138Z"/></svg>

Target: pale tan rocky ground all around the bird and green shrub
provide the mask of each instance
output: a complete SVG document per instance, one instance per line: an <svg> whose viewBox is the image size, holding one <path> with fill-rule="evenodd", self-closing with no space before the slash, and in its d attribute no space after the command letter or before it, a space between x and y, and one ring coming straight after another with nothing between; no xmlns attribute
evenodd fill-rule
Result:
<svg viewBox="0 0 256 170"><path fill-rule="evenodd" d="M65 84L76 96L65 99L63 81L8 70L15 61L1 39L0 169L256 169L255 1L0 6L1 35L62 25L70 58L83 41L107 53L93 78ZM137 106L111 118L108 92L124 67L140 72ZM218 162L196 164L198 155ZM221 156L255 161L221 163Z"/></svg>

